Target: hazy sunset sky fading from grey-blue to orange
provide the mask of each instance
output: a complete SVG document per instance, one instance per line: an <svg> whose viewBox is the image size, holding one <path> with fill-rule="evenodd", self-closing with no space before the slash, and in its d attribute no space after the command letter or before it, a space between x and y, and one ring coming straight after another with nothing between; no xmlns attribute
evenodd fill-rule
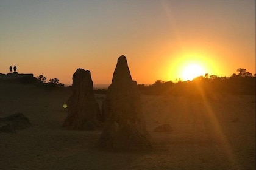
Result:
<svg viewBox="0 0 256 170"><path fill-rule="evenodd" d="M94 84L112 81L125 55L133 80L175 81L186 64L229 77L255 73L255 1L0 0L0 73L72 83L77 68Z"/></svg>

